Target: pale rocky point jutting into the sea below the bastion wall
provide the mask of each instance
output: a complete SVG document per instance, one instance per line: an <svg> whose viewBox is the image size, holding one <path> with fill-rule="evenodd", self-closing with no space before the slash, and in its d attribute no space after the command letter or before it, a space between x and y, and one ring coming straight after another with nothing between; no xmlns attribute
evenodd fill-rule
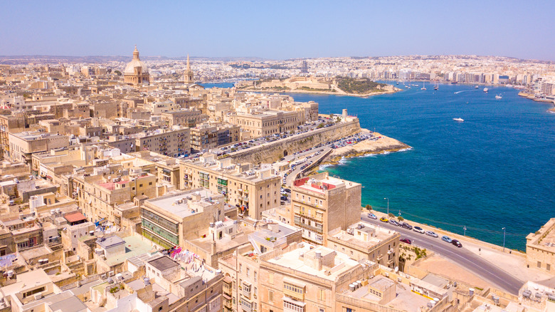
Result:
<svg viewBox="0 0 555 312"><path fill-rule="evenodd" d="M363 132L369 132L369 130L362 129ZM386 137L378 132L374 132L376 137L380 137L378 140L364 140L358 142L354 145L348 145L344 147L339 147L335 149L326 160L322 162L322 165L338 165L342 159L361 157L370 154L384 154L386 152L398 152L400 150L411 149L410 145L395 140L391 137Z"/></svg>

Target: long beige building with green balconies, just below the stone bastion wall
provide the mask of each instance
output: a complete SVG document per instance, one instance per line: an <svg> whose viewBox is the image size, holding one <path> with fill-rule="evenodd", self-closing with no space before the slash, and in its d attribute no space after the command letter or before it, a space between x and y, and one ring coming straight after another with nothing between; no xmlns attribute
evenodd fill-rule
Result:
<svg viewBox="0 0 555 312"><path fill-rule="evenodd" d="M254 169L251 164L233 164L231 158L216 160L206 153L199 160L181 160L181 187L206 187L223 194L238 213L261 219L262 212L280 206L280 176L271 167Z"/></svg>

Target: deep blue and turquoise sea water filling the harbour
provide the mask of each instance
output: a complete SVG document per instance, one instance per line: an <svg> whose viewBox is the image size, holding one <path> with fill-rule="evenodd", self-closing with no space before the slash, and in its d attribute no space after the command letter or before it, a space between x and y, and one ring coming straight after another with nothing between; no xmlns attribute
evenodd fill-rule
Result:
<svg viewBox="0 0 555 312"><path fill-rule="evenodd" d="M466 226L468 236L499 245L506 227L506 246L524 250L525 236L555 217L555 114L517 93L428 85L371 98L290 95L318 102L320 113L347 108L363 128L413 147L325 168L363 184L364 205L386 212L388 197L396 215L460 234Z"/></svg>

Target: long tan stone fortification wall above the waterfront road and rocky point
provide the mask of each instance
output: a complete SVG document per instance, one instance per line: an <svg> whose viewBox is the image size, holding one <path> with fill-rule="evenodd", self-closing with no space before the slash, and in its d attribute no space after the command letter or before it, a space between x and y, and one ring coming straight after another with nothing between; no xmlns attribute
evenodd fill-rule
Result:
<svg viewBox="0 0 555 312"><path fill-rule="evenodd" d="M233 157L236 162L252 162L258 163L271 163L286 155L292 155L294 152L306 150L309 147L314 147L320 143L325 143L332 140L337 140L342 137L353 135L361 130L359 119L346 123L339 123L332 125L328 128L317 129L294 135L282 140L266 143L256 147L251 147L247 150L240 150L233 152L229 157Z"/></svg>

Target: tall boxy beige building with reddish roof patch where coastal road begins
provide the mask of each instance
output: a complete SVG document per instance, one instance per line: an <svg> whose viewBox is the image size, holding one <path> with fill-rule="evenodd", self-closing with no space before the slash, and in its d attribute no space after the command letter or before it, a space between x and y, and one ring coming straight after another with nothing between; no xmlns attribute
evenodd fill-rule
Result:
<svg viewBox="0 0 555 312"><path fill-rule="evenodd" d="M329 177L328 172L295 180L290 223L302 229L306 241L328 246L329 232L360 221L361 189L361 184Z"/></svg>

